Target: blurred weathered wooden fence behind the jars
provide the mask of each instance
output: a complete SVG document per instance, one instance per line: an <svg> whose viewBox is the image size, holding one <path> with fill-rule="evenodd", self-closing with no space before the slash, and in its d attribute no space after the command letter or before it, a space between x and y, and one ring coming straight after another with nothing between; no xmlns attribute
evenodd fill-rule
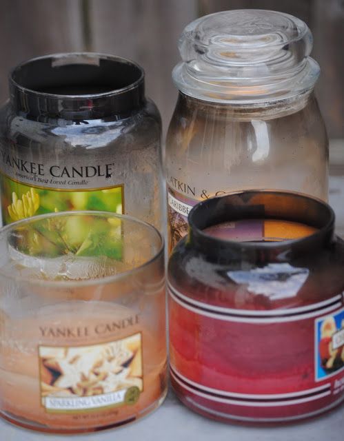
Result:
<svg viewBox="0 0 344 441"><path fill-rule="evenodd" d="M179 34L200 15L236 8L281 10L307 22L322 69L317 94L327 130L343 138L344 0L0 0L0 101L8 96L8 70L25 59L108 52L145 68L165 131L176 99L171 70L179 61Z"/></svg>

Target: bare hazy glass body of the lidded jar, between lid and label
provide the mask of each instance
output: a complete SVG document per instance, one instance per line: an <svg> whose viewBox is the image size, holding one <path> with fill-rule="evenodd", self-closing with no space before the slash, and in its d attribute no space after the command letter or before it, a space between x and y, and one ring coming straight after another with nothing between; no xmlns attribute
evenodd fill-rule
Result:
<svg viewBox="0 0 344 441"><path fill-rule="evenodd" d="M272 188L326 200L328 141L316 99L277 107L244 112L179 97L166 140L168 182L194 188L198 199Z"/></svg>

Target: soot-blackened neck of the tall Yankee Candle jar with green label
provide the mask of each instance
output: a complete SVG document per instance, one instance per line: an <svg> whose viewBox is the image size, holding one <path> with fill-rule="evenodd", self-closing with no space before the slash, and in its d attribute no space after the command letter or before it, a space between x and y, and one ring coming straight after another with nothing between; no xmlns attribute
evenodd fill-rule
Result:
<svg viewBox="0 0 344 441"><path fill-rule="evenodd" d="M145 103L144 72L119 57L92 53L32 59L10 74L10 102L30 119L103 119Z"/></svg>

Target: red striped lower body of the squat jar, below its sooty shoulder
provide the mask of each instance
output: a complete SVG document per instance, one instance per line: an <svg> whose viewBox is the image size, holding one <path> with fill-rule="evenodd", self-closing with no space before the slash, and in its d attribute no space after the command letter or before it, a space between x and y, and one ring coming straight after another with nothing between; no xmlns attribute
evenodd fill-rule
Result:
<svg viewBox="0 0 344 441"><path fill-rule="evenodd" d="M298 277L303 278L299 270ZM266 280L274 283L275 278ZM296 278L290 283L283 297L290 290L294 293L301 281ZM172 382L183 394L191 394L193 402L205 406L208 400L221 412L227 412L228 406L229 413L236 406L247 418L256 416L252 409L266 415L263 409L270 412L274 407L280 408L276 412L282 416L287 412L294 418L303 413L311 416L343 400L344 294L291 309L247 310L212 305L170 284L168 292L174 323L170 329ZM194 329L199 331L194 334ZM196 365L194 360L201 361ZM252 383L259 375L260 380Z"/></svg>

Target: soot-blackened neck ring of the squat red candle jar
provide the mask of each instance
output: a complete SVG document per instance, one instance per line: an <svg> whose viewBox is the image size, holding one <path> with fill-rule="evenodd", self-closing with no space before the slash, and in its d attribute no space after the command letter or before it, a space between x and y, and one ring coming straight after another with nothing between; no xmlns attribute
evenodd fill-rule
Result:
<svg viewBox="0 0 344 441"><path fill-rule="evenodd" d="M216 238L204 231L221 223L248 219L301 223L315 228L316 232L279 242L239 242ZM292 192L257 190L211 198L197 204L188 220L187 243L217 262L286 262L302 254L316 253L334 239L332 208L317 199Z"/></svg>

